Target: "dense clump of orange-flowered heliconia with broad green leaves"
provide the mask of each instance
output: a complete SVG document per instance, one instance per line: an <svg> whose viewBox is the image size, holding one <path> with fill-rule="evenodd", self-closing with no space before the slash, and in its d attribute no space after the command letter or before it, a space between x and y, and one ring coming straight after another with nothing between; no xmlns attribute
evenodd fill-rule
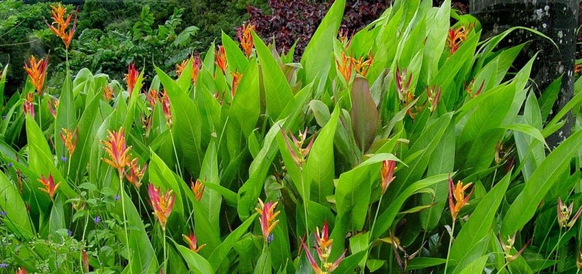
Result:
<svg viewBox="0 0 582 274"><path fill-rule="evenodd" d="M536 95L535 57L498 47L516 28L483 38L431 3L397 0L349 35L336 0L302 56L242 25L177 79L132 63L50 94L31 57L5 98L4 69L0 267L577 273L582 131L545 138L579 115L582 82L551 113L561 79ZM49 26L68 51L63 9Z"/></svg>

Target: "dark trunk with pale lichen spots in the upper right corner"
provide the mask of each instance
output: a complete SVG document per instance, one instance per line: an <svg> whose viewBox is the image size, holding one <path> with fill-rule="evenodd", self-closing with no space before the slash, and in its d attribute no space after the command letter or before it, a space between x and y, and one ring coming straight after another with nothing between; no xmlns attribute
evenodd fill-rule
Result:
<svg viewBox="0 0 582 274"><path fill-rule="evenodd" d="M554 79L562 76L561 90L553 106L553 114L570 101L574 93L577 0L470 0L469 7L470 13L481 21L485 38L514 26L530 27L552 38L559 50L547 39L522 29L505 38L505 42L518 45L531 40L524 47L523 60L529 60L535 53L540 52L531 72L537 95ZM566 125L546 138L548 145L557 147L570 136L573 125L574 119L568 114Z"/></svg>

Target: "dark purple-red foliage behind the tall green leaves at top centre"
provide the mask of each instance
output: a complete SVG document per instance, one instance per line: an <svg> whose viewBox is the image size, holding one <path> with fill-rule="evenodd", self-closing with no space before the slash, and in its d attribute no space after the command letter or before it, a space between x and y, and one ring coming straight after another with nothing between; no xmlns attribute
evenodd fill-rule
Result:
<svg viewBox="0 0 582 274"><path fill-rule="evenodd" d="M349 34L357 32L380 16L391 0L348 0L342 27ZM271 10L249 6L250 22L263 38L275 37L277 49L288 51L297 41L295 56L301 56L323 16L333 1L327 3L310 0L269 0Z"/></svg>

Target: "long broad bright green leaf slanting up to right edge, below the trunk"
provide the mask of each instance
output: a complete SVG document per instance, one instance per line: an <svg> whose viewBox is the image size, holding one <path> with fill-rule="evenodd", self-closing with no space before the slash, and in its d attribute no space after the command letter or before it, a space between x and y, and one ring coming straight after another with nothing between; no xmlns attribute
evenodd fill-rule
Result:
<svg viewBox="0 0 582 274"><path fill-rule="evenodd" d="M581 146L582 131L575 132L552 151L548 158L533 171L522 192L507 210L503 225L501 225L503 235L513 234L520 230L533 217L537 206L556 182L559 174L566 170L570 159Z"/></svg>

